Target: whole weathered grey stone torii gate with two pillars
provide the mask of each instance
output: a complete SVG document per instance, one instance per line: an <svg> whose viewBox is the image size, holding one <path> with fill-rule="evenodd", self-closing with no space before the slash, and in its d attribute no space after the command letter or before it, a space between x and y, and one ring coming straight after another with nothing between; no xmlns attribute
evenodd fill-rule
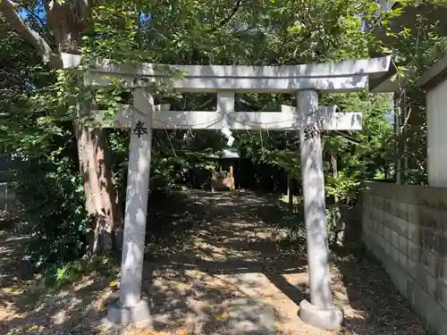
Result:
<svg viewBox="0 0 447 335"><path fill-rule="evenodd" d="M88 84L106 86L110 77L127 82L133 105L122 105L114 126L131 128L131 149L126 193L122 276L119 301L108 307L112 322L149 320L147 301L141 297L143 254L148 206L148 181L153 129L301 130L300 155L307 231L310 302L299 304L299 316L322 329L342 323L342 311L333 306L325 223L325 180L321 130L361 130L360 113L336 113L319 107L318 92L347 92L367 88L370 76L388 71L390 57L293 66L167 65L184 77L173 78L154 64L138 66L97 62L86 77ZM64 68L77 68L80 56L63 54ZM215 112L169 111L154 105L151 87L168 83L179 92L215 92ZM297 107L281 112L235 112L234 93L295 93ZM101 117L101 116L99 116Z"/></svg>

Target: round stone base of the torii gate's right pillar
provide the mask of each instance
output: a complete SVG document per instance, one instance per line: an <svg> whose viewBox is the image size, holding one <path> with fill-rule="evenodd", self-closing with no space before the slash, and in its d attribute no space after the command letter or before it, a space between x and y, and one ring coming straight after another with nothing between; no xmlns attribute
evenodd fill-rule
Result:
<svg viewBox="0 0 447 335"><path fill-rule="evenodd" d="M299 304L299 318L311 326L330 331L342 325L343 312L337 306L314 306L302 300Z"/></svg>

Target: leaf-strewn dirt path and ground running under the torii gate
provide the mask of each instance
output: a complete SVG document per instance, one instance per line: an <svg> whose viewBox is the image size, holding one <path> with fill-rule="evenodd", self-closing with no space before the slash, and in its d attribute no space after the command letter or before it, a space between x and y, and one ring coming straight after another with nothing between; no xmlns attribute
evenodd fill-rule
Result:
<svg viewBox="0 0 447 335"><path fill-rule="evenodd" d="M338 257L331 268L335 302L346 317L342 329L319 331L301 322L299 301L308 298L305 243L291 248L281 242L290 217L272 198L185 192L153 207L143 289L154 330L121 334L226 334L235 297L271 306L277 334L428 334L376 264L349 256ZM162 226L167 228L157 229ZM5 240L0 235L0 247ZM32 326L44 327L36 334L110 333L94 322L116 297L108 287L113 280L92 274L33 310L20 306L20 292L3 285L0 300L10 303L0 305L0 333Z"/></svg>

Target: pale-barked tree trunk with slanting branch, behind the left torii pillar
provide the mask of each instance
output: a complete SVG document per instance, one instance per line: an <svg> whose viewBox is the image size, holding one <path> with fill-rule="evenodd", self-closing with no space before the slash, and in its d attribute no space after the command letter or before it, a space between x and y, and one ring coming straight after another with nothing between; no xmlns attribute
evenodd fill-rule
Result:
<svg viewBox="0 0 447 335"><path fill-rule="evenodd" d="M89 27L89 2L71 0L65 2L44 1L48 31L52 31L55 47L52 48L38 32L32 29L17 12L11 0L0 1L0 13L21 36L36 48L38 54L51 69L63 66L61 53L78 53L82 31ZM94 218L93 238L90 249L94 253L105 253L113 247L121 248L123 220L114 185L105 130L89 129L82 118L88 113L89 104L81 103L82 113L74 122L80 172L86 196L86 210Z"/></svg>

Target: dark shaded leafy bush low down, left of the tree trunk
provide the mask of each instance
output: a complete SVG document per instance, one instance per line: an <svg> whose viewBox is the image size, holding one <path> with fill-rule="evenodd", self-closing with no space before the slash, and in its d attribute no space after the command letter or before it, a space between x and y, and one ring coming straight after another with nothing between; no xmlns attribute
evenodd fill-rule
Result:
<svg viewBox="0 0 447 335"><path fill-rule="evenodd" d="M30 236L26 247L33 263L61 264L84 255L91 220L72 156L21 162L15 177L21 230Z"/></svg>

